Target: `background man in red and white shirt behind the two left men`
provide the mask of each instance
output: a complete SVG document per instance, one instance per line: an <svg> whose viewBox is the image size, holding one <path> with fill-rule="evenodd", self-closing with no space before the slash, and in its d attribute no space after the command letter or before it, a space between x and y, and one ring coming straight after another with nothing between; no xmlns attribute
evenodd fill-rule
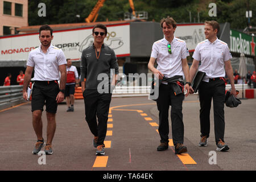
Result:
<svg viewBox="0 0 256 182"><path fill-rule="evenodd" d="M69 111L74 111L75 102L75 87L79 85L79 75L77 69L72 65L71 59L67 59L67 82L65 88L65 97L68 105Z"/></svg>

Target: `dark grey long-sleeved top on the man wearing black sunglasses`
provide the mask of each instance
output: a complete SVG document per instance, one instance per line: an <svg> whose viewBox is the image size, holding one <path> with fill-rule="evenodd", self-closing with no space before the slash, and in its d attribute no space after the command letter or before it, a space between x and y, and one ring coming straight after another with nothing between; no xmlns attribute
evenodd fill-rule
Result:
<svg viewBox="0 0 256 182"><path fill-rule="evenodd" d="M97 52L98 54L99 52ZM82 51L81 81L86 79L86 90L97 89L98 84L102 81L98 80L98 75L101 73L108 75L110 86L110 69L114 69L115 75L119 73L117 57L110 47L102 44L99 59L96 57L94 46L89 46Z"/></svg>

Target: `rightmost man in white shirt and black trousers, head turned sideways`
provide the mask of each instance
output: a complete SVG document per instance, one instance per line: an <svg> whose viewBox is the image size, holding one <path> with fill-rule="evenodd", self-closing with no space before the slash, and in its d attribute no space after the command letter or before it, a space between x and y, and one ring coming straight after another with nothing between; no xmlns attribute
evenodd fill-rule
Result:
<svg viewBox="0 0 256 182"><path fill-rule="evenodd" d="M218 151L229 150L228 145L224 142L224 102L225 102L225 71L230 80L231 94L236 96L234 86L233 69L230 63L232 58L229 52L228 44L217 38L217 33L220 31L218 22L206 21L204 34L207 40L199 43L193 53L193 63L189 71L190 81L199 71L205 72L203 81L199 85L199 100L200 100L200 127L201 139L199 146L207 146L207 138L210 133L210 106L213 99L214 110L214 133ZM193 93L192 87L189 92Z"/></svg>

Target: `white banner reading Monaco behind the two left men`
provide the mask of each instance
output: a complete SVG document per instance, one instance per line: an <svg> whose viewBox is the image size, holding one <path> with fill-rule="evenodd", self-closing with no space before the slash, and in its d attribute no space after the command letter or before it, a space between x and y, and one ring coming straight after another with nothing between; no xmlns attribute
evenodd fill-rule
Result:
<svg viewBox="0 0 256 182"><path fill-rule="evenodd" d="M82 50L93 44L93 27L53 31L52 45L63 50L67 58L79 60ZM115 55L130 55L130 24L107 26L108 35L104 43L114 49ZM39 33L13 35L0 38L1 60L27 60L28 53L40 45Z"/></svg>

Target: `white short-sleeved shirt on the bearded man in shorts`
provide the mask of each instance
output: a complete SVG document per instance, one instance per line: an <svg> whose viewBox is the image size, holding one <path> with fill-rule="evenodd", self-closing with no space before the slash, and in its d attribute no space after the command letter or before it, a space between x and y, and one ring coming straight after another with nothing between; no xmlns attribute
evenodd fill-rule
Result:
<svg viewBox="0 0 256 182"><path fill-rule="evenodd" d="M52 81L59 80L59 65L67 64L63 51L55 46L49 46L43 53L41 45L33 49L27 59L27 65L34 67L34 80Z"/></svg>

